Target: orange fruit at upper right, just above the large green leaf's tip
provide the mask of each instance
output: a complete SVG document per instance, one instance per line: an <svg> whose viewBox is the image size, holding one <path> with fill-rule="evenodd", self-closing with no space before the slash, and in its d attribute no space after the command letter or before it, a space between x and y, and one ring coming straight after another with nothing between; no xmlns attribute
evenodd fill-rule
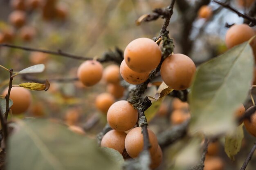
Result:
<svg viewBox="0 0 256 170"><path fill-rule="evenodd" d="M238 44L248 41L254 35L254 30L247 24L235 24L231 26L226 33L226 46L231 49Z"/></svg>

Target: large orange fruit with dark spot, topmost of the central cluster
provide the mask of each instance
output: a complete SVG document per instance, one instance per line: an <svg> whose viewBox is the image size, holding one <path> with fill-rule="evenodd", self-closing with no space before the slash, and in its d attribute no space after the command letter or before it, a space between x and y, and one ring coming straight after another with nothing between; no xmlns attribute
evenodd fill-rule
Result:
<svg viewBox="0 0 256 170"><path fill-rule="evenodd" d="M149 38L138 38L130 42L124 50L127 66L133 71L150 72L161 60L159 46Z"/></svg>

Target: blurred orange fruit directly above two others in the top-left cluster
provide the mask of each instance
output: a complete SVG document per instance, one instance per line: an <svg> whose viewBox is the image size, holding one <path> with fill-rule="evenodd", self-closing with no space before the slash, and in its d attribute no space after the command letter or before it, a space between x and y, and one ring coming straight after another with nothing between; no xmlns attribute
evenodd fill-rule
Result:
<svg viewBox="0 0 256 170"><path fill-rule="evenodd" d="M13 11L9 15L9 22L17 28L22 27L26 23L26 13L24 11Z"/></svg>

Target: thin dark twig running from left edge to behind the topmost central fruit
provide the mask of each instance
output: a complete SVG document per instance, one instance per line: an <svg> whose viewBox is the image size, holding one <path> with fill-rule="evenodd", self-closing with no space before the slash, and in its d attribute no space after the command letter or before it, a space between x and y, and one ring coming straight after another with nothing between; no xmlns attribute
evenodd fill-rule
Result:
<svg viewBox="0 0 256 170"><path fill-rule="evenodd" d="M16 45L12 45L12 44L0 44L0 46L5 46L5 47L13 48L13 49L20 49L20 50L24 50L24 51L34 51L34 52L36 51L36 52L47 53L47 54L52 54L52 55L60 55L63 57L69 57L69 58L73 58L76 60L92 60L92 58L90 58L90 57L82 57L79 55L73 55L73 54L65 53L61 50L50 51L50 50L43 50L43 49L34 49L34 48L30 48L30 47L25 47L25 46L16 46ZM99 61L99 62L112 61L112 62L116 62L117 64L121 64L123 58L124 58L123 52L116 47L115 52L109 51L107 53L104 53L103 57L97 59L97 61Z"/></svg>

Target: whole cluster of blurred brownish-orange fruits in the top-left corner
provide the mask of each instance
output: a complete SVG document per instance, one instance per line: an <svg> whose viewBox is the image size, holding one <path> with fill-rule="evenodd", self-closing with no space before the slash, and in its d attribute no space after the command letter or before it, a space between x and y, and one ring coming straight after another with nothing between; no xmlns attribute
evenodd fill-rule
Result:
<svg viewBox="0 0 256 170"><path fill-rule="evenodd" d="M10 26L1 28L0 43L12 42L16 34L25 42L33 40L36 29L27 24L27 20L34 11L39 11L44 20L65 20L67 17L67 6L57 0L10 0L10 6L13 9L9 14Z"/></svg>

